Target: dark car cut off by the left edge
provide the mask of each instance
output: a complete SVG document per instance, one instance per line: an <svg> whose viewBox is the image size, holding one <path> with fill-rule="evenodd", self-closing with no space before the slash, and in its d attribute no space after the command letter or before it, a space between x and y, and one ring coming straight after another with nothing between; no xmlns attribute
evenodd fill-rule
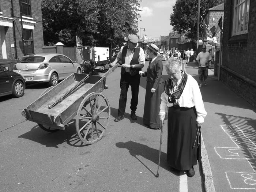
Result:
<svg viewBox="0 0 256 192"><path fill-rule="evenodd" d="M22 75L0 65L0 96L13 94L14 97L22 97L25 88L26 81Z"/></svg>

